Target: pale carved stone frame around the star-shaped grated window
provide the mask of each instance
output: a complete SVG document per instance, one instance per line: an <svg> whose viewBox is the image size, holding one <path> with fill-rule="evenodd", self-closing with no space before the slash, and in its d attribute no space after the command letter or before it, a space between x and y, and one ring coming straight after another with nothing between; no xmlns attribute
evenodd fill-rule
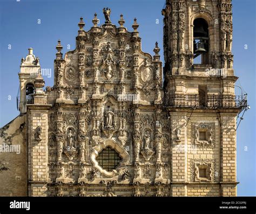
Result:
<svg viewBox="0 0 256 214"><path fill-rule="evenodd" d="M108 172L107 170L99 166L98 161L96 160L99 152L106 147L111 147L112 149L115 149L118 152L119 156L122 158L120 165L116 169L112 169L111 172ZM107 177L113 177L119 175L120 170L125 169L126 165L129 163L130 155L126 152L126 149L123 146L119 145L118 142L111 139L106 139L97 146L93 147L93 152L90 156L90 159L93 167L95 167L101 174L104 174Z"/></svg>

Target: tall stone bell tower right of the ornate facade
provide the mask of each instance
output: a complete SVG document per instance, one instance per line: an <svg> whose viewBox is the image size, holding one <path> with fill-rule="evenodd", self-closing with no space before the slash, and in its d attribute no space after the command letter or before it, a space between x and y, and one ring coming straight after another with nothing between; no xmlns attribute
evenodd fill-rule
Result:
<svg viewBox="0 0 256 214"><path fill-rule="evenodd" d="M166 0L164 90L172 196L235 196L236 118L231 0Z"/></svg>

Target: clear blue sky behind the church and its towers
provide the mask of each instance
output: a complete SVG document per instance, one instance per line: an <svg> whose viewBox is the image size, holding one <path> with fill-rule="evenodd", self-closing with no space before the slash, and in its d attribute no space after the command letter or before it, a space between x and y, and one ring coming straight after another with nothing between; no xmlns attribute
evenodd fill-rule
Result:
<svg viewBox="0 0 256 214"><path fill-rule="evenodd" d="M19 114L16 109L19 65L29 47L40 58L41 68L53 72L57 40L62 41L63 53L69 51L69 45L71 50L75 49L79 18L84 18L87 31L94 13L98 13L100 21L104 20L102 9L109 7L112 23L118 25L123 13L129 31L136 17L143 51L153 55L154 43L158 41L163 61L164 3L165 0L0 0L0 127ZM233 0L233 30L237 85L248 94L251 106L237 132L238 196L255 196L255 0ZM53 75L44 76L44 80L46 86L53 85ZM240 89L236 88L240 95Z"/></svg>

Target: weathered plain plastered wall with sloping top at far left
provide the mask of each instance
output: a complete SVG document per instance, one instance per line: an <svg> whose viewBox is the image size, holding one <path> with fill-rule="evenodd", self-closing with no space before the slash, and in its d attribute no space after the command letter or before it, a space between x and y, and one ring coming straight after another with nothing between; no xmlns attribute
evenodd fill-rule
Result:
<svg viewBox="0 0 256 214"><path fill-rule="evenodd" d="M0 134L0 146L20 146L20 153L0 152L0 196L27 196L26 115L6 124Z"/></svg>

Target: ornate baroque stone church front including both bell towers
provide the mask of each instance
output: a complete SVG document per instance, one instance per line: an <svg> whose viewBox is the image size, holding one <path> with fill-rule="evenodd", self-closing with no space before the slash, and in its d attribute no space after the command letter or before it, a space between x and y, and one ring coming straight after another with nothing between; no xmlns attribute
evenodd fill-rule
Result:
<svg viewBox="0 0 256 214"><path fill-rule="evenodd" d="M142 51L136 18L128 32L109 8L87 32L80 18L74 51L63 56L58 41L45 91L30 48L19 73L28 195L235 196L235 122L246 98L234 94L231 7L167 0L164 69L157 42L153 57ZM199 41L207 55L193 49L198 18L208 23Z"/></svg>

